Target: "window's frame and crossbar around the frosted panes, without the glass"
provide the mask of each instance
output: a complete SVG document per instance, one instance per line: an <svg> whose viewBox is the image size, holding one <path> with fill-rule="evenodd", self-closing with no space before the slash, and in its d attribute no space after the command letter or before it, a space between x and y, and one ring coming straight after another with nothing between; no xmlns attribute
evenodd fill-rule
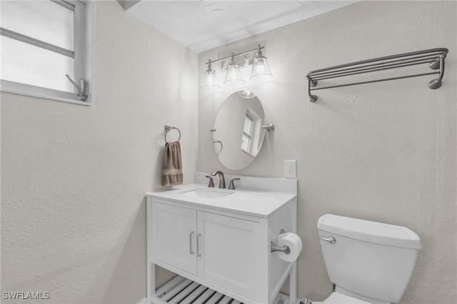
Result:
<svg viewBox="0 0 457 304"><path fill-rule="evenodd" d="M57 2L57 1L54 1ZM75 79L84 78L88 83L88 96L84 101L81 101L78 90L74 88L74 92L59 91L52 88L44 88L41 86L32 86L26 83L19 83L15 81L7 81L1 79L0 91L8 93L16 93L26 96L33 96L39 98L46 98L56 101L65 101L69 103L77 103L84 106L91 106L91 66L92 66L92 23L93 23L93 9L94 4L92 1L81 0L66 0L59 1L59 5L74 6L74 75L71 78ZM19 41L26 41L26 43L41 46L43 49L51 51L52 45L46 45L45 42L37 39L14 33L6 29L1 29L1 35L13 38ZM60 48L59 48L60 49ZM66 50L57 50L59 54ZM62 75L65 77L65 75ZM75 81L79 84L79 81ZM81 86L81 85L80 85Z"/></svg>

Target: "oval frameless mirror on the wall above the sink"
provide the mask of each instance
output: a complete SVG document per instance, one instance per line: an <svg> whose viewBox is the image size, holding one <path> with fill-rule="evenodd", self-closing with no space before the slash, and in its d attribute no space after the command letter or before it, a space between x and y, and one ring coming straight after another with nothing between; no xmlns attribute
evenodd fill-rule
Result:
<svg viewBox="0 0 457 304"><path fill-rule="evenodd" d="M227 97L216 115L213 146L219 161L231 170L248 166L263 143L266 130L262 103L249 91Z"/></svg>

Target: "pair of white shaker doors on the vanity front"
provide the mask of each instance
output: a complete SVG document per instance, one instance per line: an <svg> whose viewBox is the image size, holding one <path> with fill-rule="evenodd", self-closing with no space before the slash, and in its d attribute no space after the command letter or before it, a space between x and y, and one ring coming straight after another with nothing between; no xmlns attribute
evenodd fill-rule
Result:
<svg viewBox="0 0 457 304"><path fill-rule="evenodd" d="M151 201L152 258L252 298L261 223Z"/></svg>

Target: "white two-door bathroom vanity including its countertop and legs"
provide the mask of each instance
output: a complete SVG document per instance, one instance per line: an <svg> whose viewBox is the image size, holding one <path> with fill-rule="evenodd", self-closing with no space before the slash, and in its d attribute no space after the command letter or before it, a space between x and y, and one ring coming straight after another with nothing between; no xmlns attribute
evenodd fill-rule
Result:
<svg viewBox="0 0 457 304"><path fill-rule="evenodd" d="M283 201L265 212L262 200L237 207L249 193L201 199L179 191L146 196L148 300L163 303L155 295L159 265L242 303L272 303L295 263L271 253L271 241L281 229L296 232L296 196L277 195Z"/></svg>

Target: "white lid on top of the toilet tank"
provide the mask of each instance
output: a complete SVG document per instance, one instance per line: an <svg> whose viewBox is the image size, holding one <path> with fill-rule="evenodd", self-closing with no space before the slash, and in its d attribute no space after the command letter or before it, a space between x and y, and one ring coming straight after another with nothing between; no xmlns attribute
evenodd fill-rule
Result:
<svg viewBox="0 0 457 304"><path fill-rule="evenodd" d="M317 228L327 233L371 243L412 249L422 248L418 235L403 226L326 214L319 218Z"/></svg>

